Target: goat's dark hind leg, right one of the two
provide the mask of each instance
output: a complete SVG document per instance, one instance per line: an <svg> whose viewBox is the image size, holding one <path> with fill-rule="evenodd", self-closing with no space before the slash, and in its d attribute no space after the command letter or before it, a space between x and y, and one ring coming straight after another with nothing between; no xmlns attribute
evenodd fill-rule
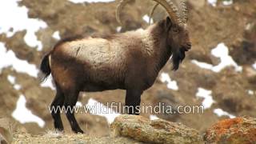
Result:
<svg viewBox="0 0 256 144"><path fill-rule="evenodd" d="M75 133L82 133L83 134L82 129L80 128L80 126L78 125L77 120L74 117L74 112L75 112L74 111L74 106L75 106L76 102L78 101L78 94L79 94L78 90L70 90L67 93L65 93L64 106L67 110L66 111L66 118L69 120L72 130Z"/></svg>

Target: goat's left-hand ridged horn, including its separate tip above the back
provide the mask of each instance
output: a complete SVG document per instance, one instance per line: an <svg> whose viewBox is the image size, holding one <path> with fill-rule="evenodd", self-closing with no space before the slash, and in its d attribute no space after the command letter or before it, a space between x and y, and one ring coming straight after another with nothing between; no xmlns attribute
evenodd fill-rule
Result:
<svg viewBox="0 0 256 144"><path fill-rule="evenodd" d="M116 13L116 18L117 21L122 24L121 22L121 18L120 18L120 13L121 10L123 9L124 6L126 6L127 2L129 2L130 0L122 0L119 4L118 4L118 8L117 8L117 13ZM178 23L178 24L182 24L181 19L179 18L179 14L178 14L178 9L176 6L174 6L174 3L171 2L171 0L153 0L154 2L158 2L161 6L163 6L167 13L169 14L170 18Z"/></svg>

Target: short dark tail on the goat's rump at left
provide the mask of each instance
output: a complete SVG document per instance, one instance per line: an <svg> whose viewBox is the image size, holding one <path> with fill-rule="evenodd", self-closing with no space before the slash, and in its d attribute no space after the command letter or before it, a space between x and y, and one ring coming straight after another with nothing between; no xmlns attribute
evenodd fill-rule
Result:
<svg viewBox="0 0 256 144"><path fill-rule="evenodd" d="M38 78L40 79L40 82L45 82L46 78L50 75L50 60L49 60L50 54L46 54L42 58L42 62L40 65L40 73L38 75Z"/></svg>

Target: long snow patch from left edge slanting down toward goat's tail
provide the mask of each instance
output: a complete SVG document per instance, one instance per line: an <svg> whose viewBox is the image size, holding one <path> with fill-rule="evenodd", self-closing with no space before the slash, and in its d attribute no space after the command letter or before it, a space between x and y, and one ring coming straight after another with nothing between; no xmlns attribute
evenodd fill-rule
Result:
<svg viewBox="0 0 256 144"><path fill-rule="evenodd" d="M0 42L0 58L4 59L0 61L0 70L12 66L17 72L26 73L35 78L38 76L38 69L35 65L17 58L14 51L6 50L2 42Z"/></svg>

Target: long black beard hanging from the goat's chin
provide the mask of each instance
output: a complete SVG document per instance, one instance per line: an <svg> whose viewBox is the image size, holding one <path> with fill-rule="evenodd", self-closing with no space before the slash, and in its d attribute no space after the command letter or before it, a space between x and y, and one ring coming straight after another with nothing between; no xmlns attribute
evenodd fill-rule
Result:
<svg viewBox="0 0 256 144"><path fill-rule="evenodd" d="M171 61L173 63L173 70L178 70L180 63L182 63L183 59L186 56L185 52L186 49L183 47L172 51Z"/></svg>

